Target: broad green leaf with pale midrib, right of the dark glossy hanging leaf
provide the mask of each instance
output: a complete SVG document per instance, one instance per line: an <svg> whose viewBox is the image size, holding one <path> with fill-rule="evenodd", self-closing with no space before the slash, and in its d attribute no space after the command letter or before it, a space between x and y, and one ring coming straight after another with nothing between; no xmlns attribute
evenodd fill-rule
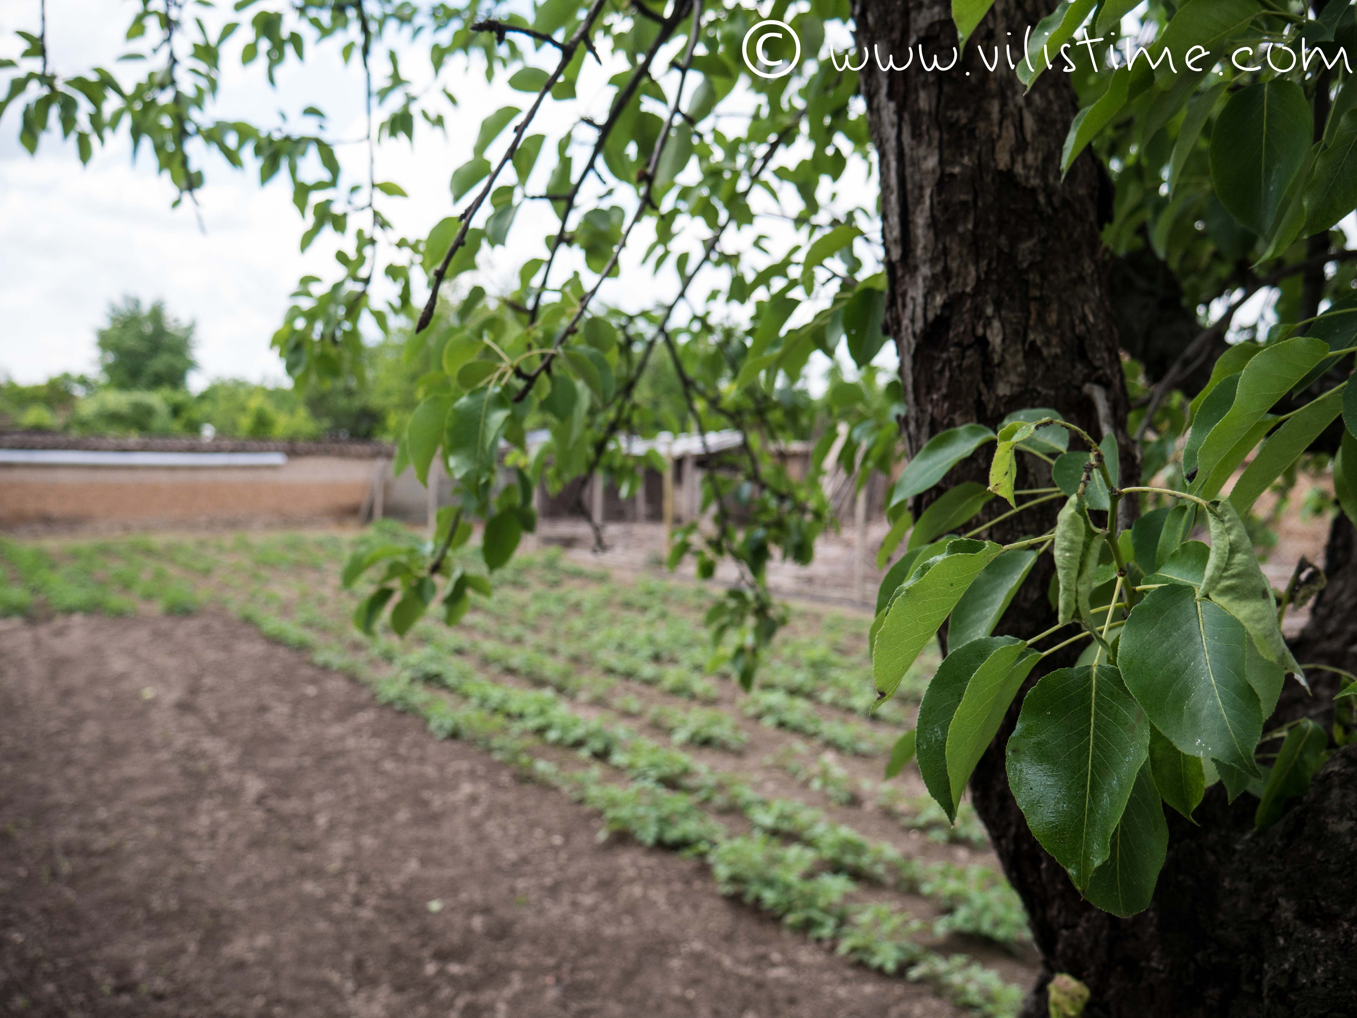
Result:
<svg viewBox="0 0 1357 1018"><path fill-rule="evenodd" d="M1247 638L1225 609L1170 584L1130 610L1117 663L1149 720L1182 752L1257 774L1263 718L1244 672Z"/></svg>

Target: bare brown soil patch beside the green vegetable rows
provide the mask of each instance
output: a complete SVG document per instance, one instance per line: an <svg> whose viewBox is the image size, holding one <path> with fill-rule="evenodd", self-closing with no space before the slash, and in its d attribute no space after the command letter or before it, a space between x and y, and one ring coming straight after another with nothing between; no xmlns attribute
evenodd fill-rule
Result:
<svg viewBox="0 0 1357 1018"><path fill-rule="evenodd" d="M0 1014L958 1014L242 622L0 625Z"/></svg>

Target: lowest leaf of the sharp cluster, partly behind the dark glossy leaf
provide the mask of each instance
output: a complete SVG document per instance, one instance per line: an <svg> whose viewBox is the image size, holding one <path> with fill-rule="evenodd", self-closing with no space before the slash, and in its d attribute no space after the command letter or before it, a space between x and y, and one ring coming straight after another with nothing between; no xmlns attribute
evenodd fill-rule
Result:
<svg viewBox="0 0 1357 1018"><path fill-rule="evenodd" d="M1145 762L1136 773L1126 809L1113 831L1107 861L1094 870L1084 897L1091 905L1122 919L1143 912L1155 896L1167 857L1168 824L1151 765Z"/></svg>

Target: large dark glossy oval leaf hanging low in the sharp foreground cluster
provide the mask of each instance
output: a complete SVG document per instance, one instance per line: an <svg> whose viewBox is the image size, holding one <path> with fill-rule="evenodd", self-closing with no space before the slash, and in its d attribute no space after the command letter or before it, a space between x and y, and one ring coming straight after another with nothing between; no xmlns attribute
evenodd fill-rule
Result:
<svg viewBox="0 0 1357 1018"><path fill-rule="evenodd" d="M1149 724L1110 664L1061 668L1026 695L1008 785L1027 827L1084 891L1149 754Z"/></svg>

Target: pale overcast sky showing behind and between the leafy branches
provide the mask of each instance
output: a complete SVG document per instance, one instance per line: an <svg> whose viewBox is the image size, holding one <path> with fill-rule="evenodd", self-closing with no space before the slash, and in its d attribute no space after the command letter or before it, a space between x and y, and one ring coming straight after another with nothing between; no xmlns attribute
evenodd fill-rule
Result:
<svg viewBox="0 0 1357 1018"><path fill-rule="evenodd" d="M235 16L227 0L220 5L221 11L204 15L209 24ZM47 0L53 69L72 75L103 64L119 73L126 70L130 80L132 72L144 65L119 65L114 60L126 49L123 34L136 9L133 0ZM0 0L0 56L16 57L14 31L34 28L37 19L38 0ZM239 31L235 47L246 37ZM334 47L309 49L304 69L290 64L280 72L277 89L263 80L263 61L246 72L236 56L223 64L227 70L221 99L212 115L265 126L290 115L294 125L301 108L316 104L330 115L327 137L362 137L357 61L345 68ZM579 102L546 107L535 129L551 136L579 113L601 117L607 111L611 92L605 81L615 68L600 70L592 62L585 66ZM417 83L427 81L427 49L411 50L402 61L402 72ZM425 236L455 211L448 180L471 156L482 118L499 106L522 107L531 99L502 83L490 85L483 70L468 70L452 61L440 84L451 87L459 99L456 108L441 106L448 137L417 131L415 152L391 142L379 149L379 179L398 182L410 195L384 202L384 209L398 232L411 236ZM601 110L594 108L600 104ZM174 187L155 172L149 148L133 160L123 133L107 149L96 148L90 164L81 167L73 144L46 136L33 157L18 142L18 107L11 108L0 121L0 377L31 384L60 371L92 371L95 329L106 320L109 305L129 294L147 302L163 300L171 313L195 323L201 370L190 380L194 388L220 377L285 384L269 340L289 293L304 274L330 281L338 271L332 241L323 237L305 253L299 251L304 224L292 205L285 174L261 188L254 172L209 160L198 211L189 203L174 209ZM548 137L539 169L550 171L552 144ZM490 155L495 152L493 148ZM365 171L361 145L341 148L341 159L346 168ZM862 178L858 182L852 182L855 172ZM864 167L854 168L845 178L844 192L859 201L864 172ZM613 201L626 205L626 198ZM509 289L517 266L539 253L543 236L555 226L544 202L525 203L508 248L482 259L480 282L489 289ZM773 235L788 230L786 224L767 220L760 229ZM634 268L649 245L646 232L638 228L624 255L624 285L609 282L601 293L604 300L639 309L666 298L673 289L672 279L655 279L649 270ZM693 237L695 248L700 240ZM627 271L628 266L632 271ZM700 285L695 286L695 291L700 290ZM415 297L423 297L418 285ZM794 323L811 310L805 308ZM887 347L881 359L892 357ZM825 366L820 365L821 373Z"/></svg>

